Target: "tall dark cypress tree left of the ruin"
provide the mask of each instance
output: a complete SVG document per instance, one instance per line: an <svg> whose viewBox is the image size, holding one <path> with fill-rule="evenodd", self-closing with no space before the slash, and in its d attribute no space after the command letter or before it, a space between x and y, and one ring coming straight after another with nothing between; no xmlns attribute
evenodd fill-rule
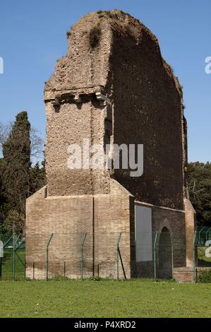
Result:
<svg viewBox="0 0 211 332"><path fill-rule="evenodd" d="M4 204L6 220L16 215L13 229L25 220L25 199L30 195L30 122L27 112L16 116L11 132L2 145L4 156L4 188L7 203ZM8 213L6 213L8 211ZM9 218L9 220L15 220ZM20 228L20 227L19 227Z"/></svg>

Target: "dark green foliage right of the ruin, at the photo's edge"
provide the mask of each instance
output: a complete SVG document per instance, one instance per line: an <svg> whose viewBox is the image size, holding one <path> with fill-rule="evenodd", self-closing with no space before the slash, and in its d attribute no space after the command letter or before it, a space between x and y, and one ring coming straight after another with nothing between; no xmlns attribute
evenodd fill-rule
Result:
<svg viewBox="0 0 211 332"><path fill-rule="evenodd" d="M211 226L211 163L188 164L188 188L198 225Z"/></svg>

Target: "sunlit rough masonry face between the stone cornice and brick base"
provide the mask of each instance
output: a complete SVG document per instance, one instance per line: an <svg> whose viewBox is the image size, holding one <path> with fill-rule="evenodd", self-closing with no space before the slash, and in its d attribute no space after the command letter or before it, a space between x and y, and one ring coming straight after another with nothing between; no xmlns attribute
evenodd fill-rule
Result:
<svg viewBox="0 0 211 332"><path fill-rule="evenodd" d="M47 146L46 169L47 191L49 196L108 194L109 174L107 170L95 170L88 166L84 169L70 170L68 168L68 146L78 144L81 148L83 162L83 144L102 144L104 146L104 119L106 110L99 102L87 97L80 105L74 102L64 102L56 109L52 102L46 104L47 112Z"/></svg>

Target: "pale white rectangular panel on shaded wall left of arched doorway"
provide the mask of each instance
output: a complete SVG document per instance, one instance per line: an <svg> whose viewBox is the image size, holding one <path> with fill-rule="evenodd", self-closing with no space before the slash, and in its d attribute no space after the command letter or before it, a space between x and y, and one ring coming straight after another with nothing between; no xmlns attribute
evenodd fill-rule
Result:
<svg viewBox="0 0 211 332"><path fill-rule="evenodd" d="M152 209L135 204L136 261L152 261Z"/></svg>

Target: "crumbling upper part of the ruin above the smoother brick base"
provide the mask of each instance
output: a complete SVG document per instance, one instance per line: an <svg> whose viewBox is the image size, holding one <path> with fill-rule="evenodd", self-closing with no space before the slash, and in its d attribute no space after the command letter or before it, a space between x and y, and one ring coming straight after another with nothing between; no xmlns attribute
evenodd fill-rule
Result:
<svg viewBox="0 0 211 332"><path fill-rule="evenodd" d="M98 44L90 46L93 28ZM100 107L95 92L113 103ZM81 95L77 105L73 97ZM85 97L86 95L86 97ZM51 99L58 97L58 112ZM49 195L109 192L114 177L139 201L183 209L183 107L179 82L162 59L157 38L126 13L90 13L68 35L68 54L56 64L45 89ZM144 174L129 170L67 170L70 143L144 145Z"/></svg>

